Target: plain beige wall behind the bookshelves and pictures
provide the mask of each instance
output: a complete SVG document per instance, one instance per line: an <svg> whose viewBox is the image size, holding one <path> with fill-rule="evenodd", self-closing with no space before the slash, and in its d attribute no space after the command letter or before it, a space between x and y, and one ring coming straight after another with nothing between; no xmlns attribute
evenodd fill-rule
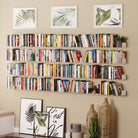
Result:
<svg viewBox="0 0 138 138"><path fill-rule="evenodd" d="M95 29L93 27L93 6L95 4L123 4L123 27L117 29ZM78 6L77 29L51 29L51 6ZM67 108L67 129L70 123L85 124L91 103L96 109L106 96L81 94L14 91L6 88L6 35L13 33L117 33L128 37L128 63L124 65L127 81L123 81L128 96L109 96L109 103L115 110L114 138L138 137L138 1L137 0L0 0L0 109L12 110L19 126L20 98L42 98L44 110L47 105ZM13 8L36 7L38 27L34 30L12 29ZM0 124L2 125L2 124Z"/></svg>

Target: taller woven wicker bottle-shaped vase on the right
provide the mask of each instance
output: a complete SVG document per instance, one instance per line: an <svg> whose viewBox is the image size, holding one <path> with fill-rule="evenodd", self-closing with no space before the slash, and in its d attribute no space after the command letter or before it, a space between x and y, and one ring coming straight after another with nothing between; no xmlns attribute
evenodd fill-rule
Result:
<svg viewBox="0 0 138 138"><path fill-rule="evenodd" d="M113 138L113 110L105 98L98 112L100 138Z"/></svg>

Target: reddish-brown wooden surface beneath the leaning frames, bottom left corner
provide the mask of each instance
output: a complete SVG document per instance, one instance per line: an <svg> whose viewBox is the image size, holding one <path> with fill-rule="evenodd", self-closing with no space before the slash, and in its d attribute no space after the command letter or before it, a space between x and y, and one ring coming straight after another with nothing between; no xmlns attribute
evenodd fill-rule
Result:
<svg viewBox="0 0 138 138"><path fill-rule="evenodd" d="M40 136L25 135L25 134L19 134L19 133L9 133L9 134L0 136L0 138L54 138L54 137L40 137Z"/></svg>

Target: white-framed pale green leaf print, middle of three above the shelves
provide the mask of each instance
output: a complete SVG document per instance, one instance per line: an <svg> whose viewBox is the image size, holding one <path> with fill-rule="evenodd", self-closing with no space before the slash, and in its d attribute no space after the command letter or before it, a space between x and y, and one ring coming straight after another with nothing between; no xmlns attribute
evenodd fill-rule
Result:
<svg viewBox="0 0 138 138"><path fill-rule="evenodd" d="M76 28L77 27L77 7L52 7L51 8L52 28Z"/></svg>

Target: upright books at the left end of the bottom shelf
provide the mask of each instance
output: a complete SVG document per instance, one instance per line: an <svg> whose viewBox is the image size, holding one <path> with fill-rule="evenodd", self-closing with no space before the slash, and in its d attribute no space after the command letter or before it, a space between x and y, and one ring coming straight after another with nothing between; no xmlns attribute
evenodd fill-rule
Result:
<svg viewBox="0 0 138 138"><path fill-rule="evenodd" d="M17 90L51 91L51 79L8 77L7 88Z"/></svg>

